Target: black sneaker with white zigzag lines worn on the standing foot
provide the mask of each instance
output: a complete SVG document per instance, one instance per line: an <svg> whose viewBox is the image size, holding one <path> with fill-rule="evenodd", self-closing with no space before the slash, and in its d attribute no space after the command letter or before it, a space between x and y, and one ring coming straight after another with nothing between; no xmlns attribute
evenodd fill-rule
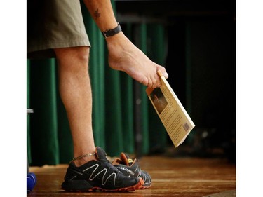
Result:
<svg viewBox="0 0 263 197"><path fill-rule="evenodd" d="M100 147L95 149L98 161L89 161L76 167L74 161L69 163L62 183L66 191L134 191L143 181L138 177L126 177L109 163L107 154Z"/></svg>

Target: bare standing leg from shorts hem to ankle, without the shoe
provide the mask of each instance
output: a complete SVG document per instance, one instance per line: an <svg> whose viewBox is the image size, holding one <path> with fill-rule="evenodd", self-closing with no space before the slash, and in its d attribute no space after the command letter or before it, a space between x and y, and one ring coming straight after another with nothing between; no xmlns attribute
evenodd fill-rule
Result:
<svg viewBox="0 0 263 197"><path fill-rule="evenodd" d="M89 48L57 48L59 90L74 144L74 157L95 151L92 130L92 93L88 75ZM76 160L82 165L95 156Z"/></svg>

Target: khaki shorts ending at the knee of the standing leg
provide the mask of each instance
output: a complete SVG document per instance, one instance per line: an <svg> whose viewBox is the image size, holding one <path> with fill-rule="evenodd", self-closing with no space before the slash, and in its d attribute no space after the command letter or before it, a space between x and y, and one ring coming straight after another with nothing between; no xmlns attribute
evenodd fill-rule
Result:
<svg viewBox="0 0 263 197"><path fill-rule="evenodd" d="M90 46L79 0L27 0L28 58L74 46Z"/></svg>

